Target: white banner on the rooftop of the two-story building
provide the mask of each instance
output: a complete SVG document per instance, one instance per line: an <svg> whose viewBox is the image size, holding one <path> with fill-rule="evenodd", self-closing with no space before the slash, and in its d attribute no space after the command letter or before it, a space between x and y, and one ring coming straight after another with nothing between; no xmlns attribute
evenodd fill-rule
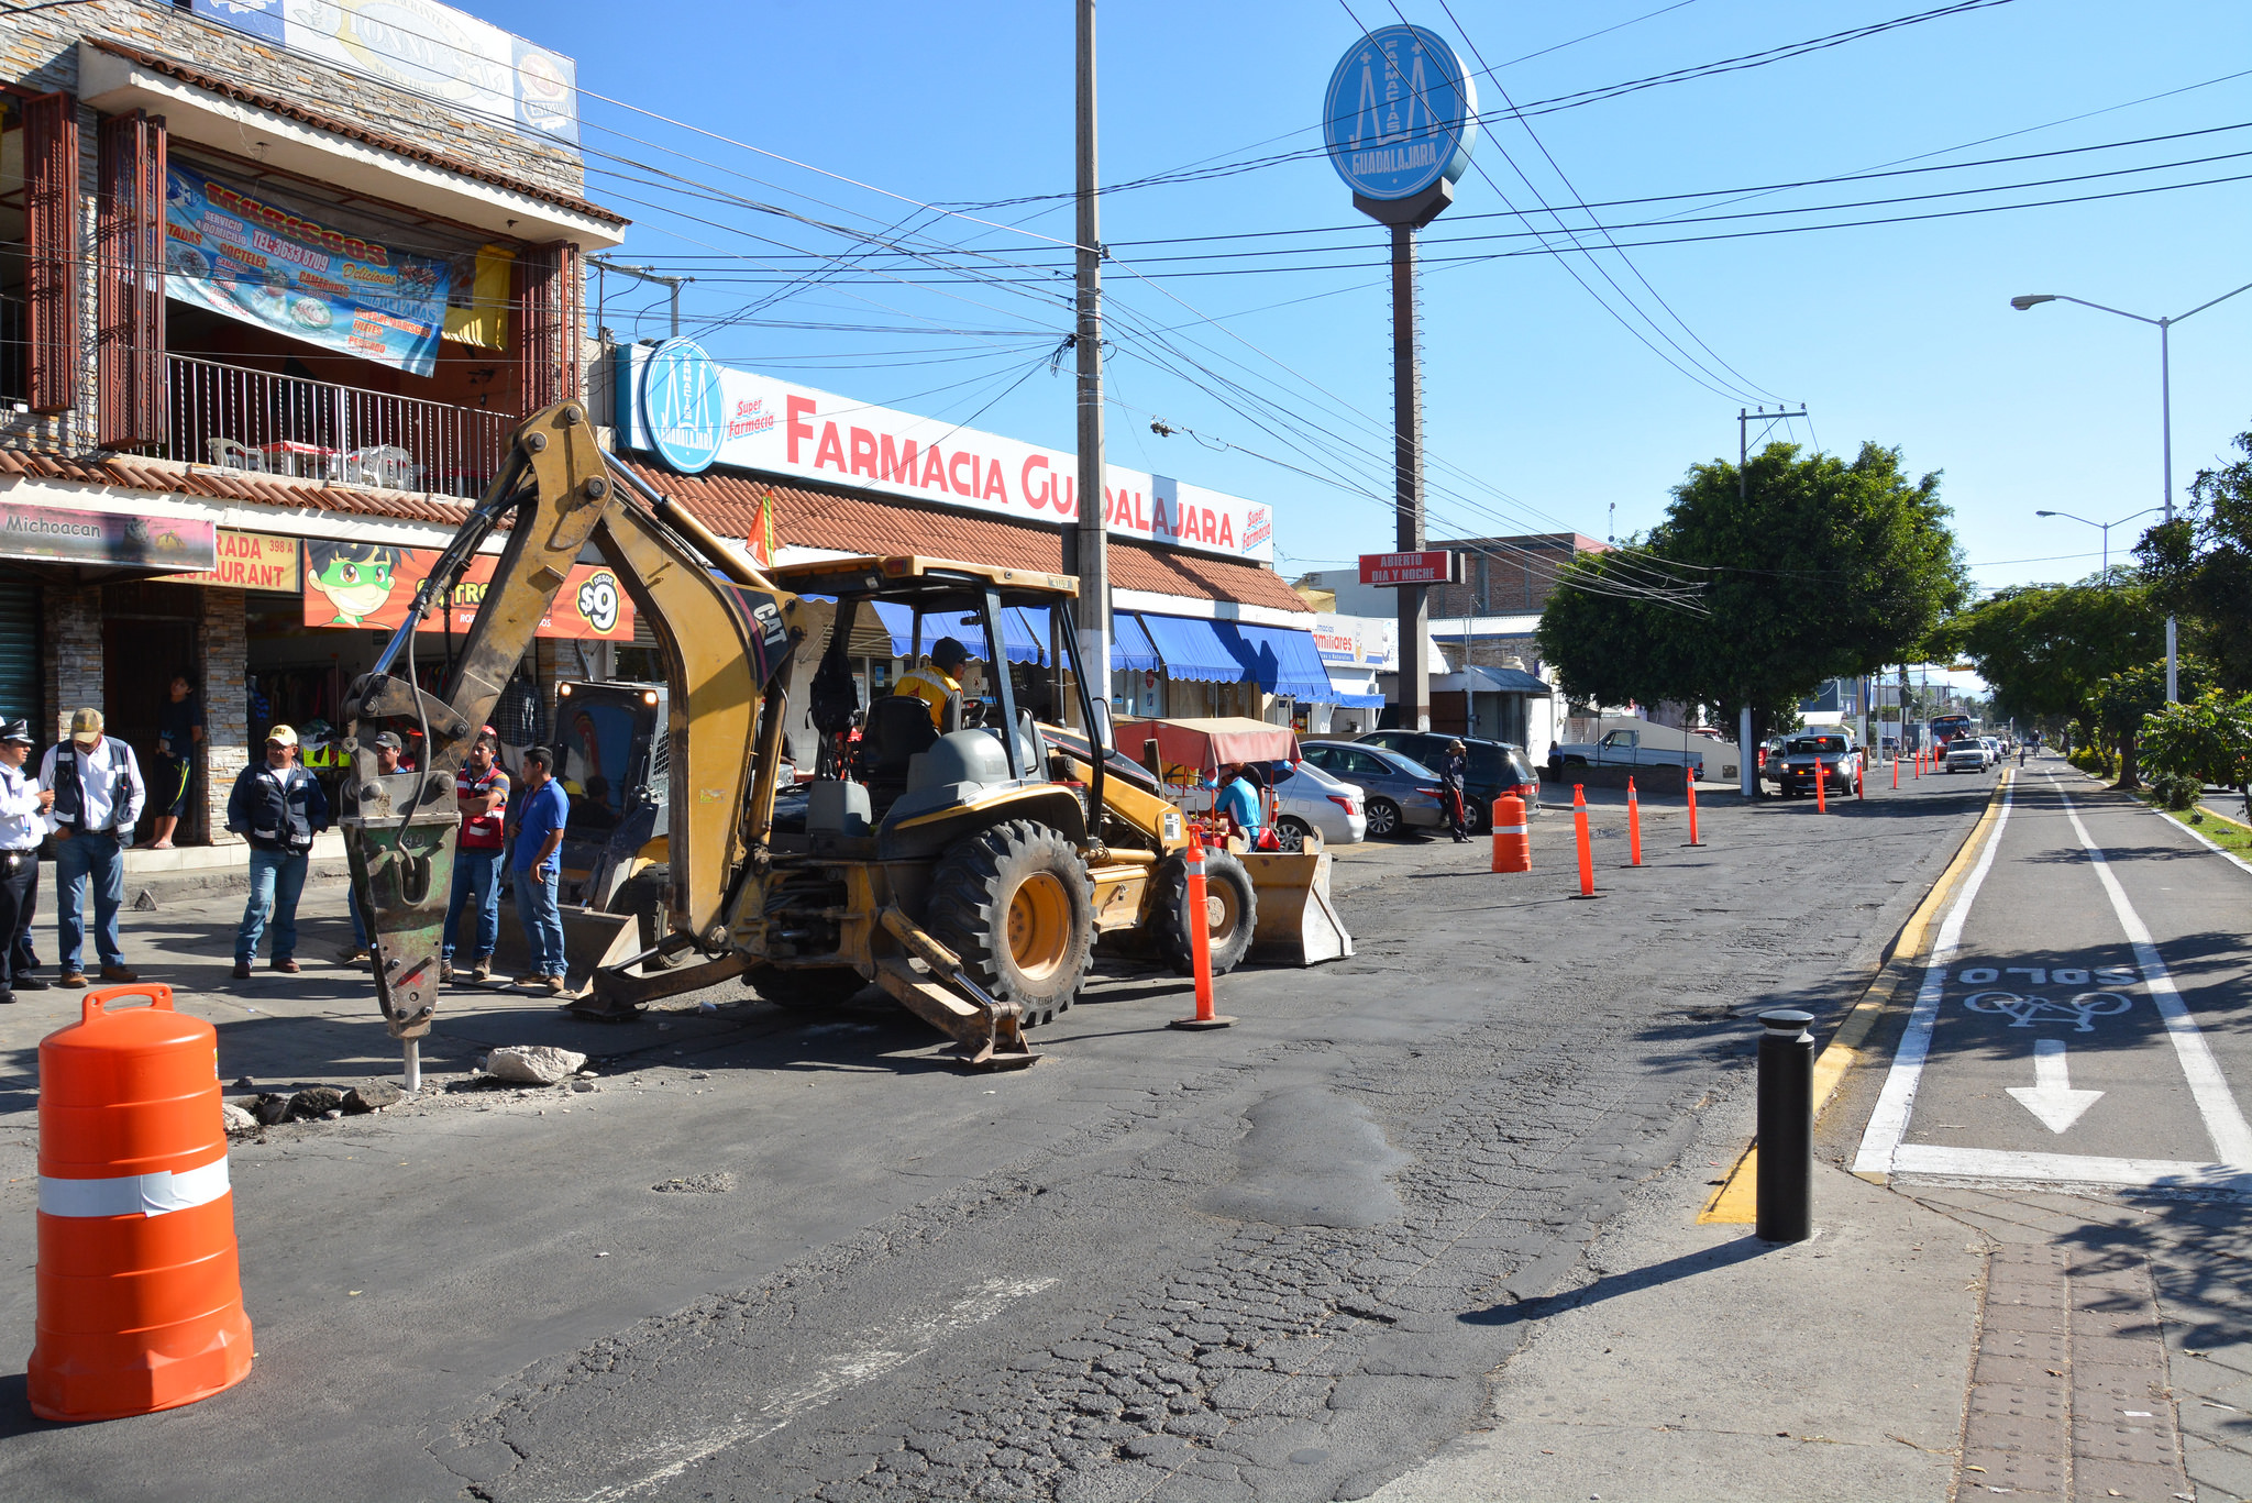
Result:
<svg viewBox="0 0 2252 1503"><path fill-rule="evenodd" d="M579 142L579 65L432 0L191 0L248 36L455 104L529 135Z"/></svg>

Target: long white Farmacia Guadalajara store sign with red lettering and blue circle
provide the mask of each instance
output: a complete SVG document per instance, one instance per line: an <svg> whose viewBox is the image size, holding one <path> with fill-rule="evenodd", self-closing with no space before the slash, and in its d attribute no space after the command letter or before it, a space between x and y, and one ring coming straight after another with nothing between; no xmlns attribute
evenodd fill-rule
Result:
<svg viewBox="0 0 2252 1503"><path fill-rule="evenodd" d="M696 475L714 464L797 475L941 507L1061 525L1079 462L1061 448L716 365L694 340L617 352L617 442ZM1169 475L1106 466L1110 532L1275 559L1275 514Z"/></svg>

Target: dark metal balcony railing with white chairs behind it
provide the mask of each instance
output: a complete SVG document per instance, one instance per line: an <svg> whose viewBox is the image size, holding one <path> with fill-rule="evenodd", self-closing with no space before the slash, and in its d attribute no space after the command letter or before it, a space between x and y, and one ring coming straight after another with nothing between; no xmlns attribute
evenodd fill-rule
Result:
<svg viewBox="0 0 2252 1503"><path fill-rule="evenodd" d="M164 356L164 455L266 475L482 496L516 417Z"/></svg>

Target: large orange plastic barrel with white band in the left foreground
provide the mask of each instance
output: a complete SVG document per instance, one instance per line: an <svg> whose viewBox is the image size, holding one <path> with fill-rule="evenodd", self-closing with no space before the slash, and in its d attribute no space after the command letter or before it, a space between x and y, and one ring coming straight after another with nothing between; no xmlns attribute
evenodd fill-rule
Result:
<svg viewBox="0 0 2252 1503"><path fill-rule="evenodd" d="M149 1007L110 1012L144 996ZM250 1372L218 1032L171 987L106 987L38 1043L41 1420L178 1408Z"/></svg>

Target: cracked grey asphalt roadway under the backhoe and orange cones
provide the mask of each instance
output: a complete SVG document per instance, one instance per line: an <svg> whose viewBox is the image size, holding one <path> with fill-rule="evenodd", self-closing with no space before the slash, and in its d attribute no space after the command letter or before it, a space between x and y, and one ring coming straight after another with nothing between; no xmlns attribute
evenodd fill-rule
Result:
<svg viewBox="0 0 2252 1503"><path fill-rule="evenodd" d="M1858 996L1989 784L1826 818L1714 800L1700 850L1653 807L1639 872L1603 807L1599 901L1570 897L1567 818L1538 822L1529 877L1480 845L1356 850L1356 958L1225 978L1241 1023L1205 1034L1164 1028L1178 980L1119 969L1016 1075L953 1070L876 1000L808 1021L689 998L606 1032L457 998L441 1066L568 1034L604 1088L441 1077L239 1142L252 1377L99 1426L34 1422L0 1379L0 1492L1365 1496L1482 1422L1520 1305L1748 1084L1748 1014ZM223 908L151 933L216 971ZM216 987L187 1005L221 1021L227 1079L392 1055L349 982L293 987L318 998L295 1016ZM25 1354L29 1039L56 998L0 1034Z"/></svg>

